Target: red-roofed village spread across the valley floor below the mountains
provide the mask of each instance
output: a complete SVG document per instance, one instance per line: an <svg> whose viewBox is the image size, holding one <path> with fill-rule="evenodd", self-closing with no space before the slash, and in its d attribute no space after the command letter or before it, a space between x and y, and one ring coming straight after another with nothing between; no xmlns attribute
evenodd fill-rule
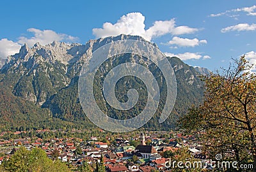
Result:
<svg viewBox="0 0 256 172"><path fill-rule="evenodd" d="M45 129L37 131L40 133L49 132ZM103 131L104 132L104 131ZM15 133L19 135L22 131ZM184 136L180 132L173 132L172 138L161 138L163 132L145 132L134 134L126 139L119 137L115 141L110 138L91 136L88 140L81 138L52 138L44 140L42 138L16 138L4 140L0 135L0 164L4 159L23 146L26 149L38 147L45 151L50 159L58 157L60 161L67 164L72 169L77 169L84 162L95 169L96 162L103 159L106 171L170 171L175 166L170 166L175 152L186 148L186 154L196 161L202 163L207 161L207 157L202 155L202 147L196 141L195 136ZM179 155L178 155L179 156ZM169 167L166 166L169 164Z"/></svg>

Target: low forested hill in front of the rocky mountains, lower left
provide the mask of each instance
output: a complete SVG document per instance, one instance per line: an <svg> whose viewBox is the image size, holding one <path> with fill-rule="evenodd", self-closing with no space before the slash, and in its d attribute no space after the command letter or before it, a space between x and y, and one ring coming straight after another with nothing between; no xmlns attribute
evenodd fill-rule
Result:
<svg viewBox="0 0 256 172"><path fill-rule="evenodd" d="M31 129L58 129L75 127L77 124L52 118L49 110L14 96L0 83L0 130L22 131Z"/></svg>

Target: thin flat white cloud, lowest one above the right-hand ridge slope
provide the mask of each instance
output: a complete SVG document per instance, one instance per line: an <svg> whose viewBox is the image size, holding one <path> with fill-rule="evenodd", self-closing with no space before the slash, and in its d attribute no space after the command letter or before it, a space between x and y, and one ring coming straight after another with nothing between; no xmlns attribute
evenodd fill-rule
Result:
<svg viewBox="0 0 256 172"><path fill-rule="evenodd" d="M182 61L187 61L191 59L198 60L202 58L202 55L198 52L196 53L185 52L184 54L172 54L172 53L165 52L164 54L168 57L174 57L174 56L179 57ZM204 55L203 59L211 59L211 57L209 55Z"/></svg>

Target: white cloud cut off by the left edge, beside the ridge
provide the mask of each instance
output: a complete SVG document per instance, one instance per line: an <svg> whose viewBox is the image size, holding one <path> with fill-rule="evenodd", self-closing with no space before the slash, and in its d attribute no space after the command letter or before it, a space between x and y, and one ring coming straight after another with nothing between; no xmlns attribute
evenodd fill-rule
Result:
<svg viewBox="0 0 256 172"><path fill-rule="evenodd" d="M6 59L8 55L13 55L19 52L21 45L6 38L0 40L0 57Z"/></svg>

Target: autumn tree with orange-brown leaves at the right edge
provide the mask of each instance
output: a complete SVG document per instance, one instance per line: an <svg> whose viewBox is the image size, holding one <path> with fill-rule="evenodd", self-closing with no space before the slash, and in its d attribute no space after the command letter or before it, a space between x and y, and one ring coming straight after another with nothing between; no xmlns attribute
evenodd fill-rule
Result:
<svg viewBox="0 0 256 172"><path fill-rule="evenodd" d="M180 120L187 131L199 133L205 154L214 159L253 164L256 170L256 79L244 56L221 72L202 76L204 103Z"/></svg>

